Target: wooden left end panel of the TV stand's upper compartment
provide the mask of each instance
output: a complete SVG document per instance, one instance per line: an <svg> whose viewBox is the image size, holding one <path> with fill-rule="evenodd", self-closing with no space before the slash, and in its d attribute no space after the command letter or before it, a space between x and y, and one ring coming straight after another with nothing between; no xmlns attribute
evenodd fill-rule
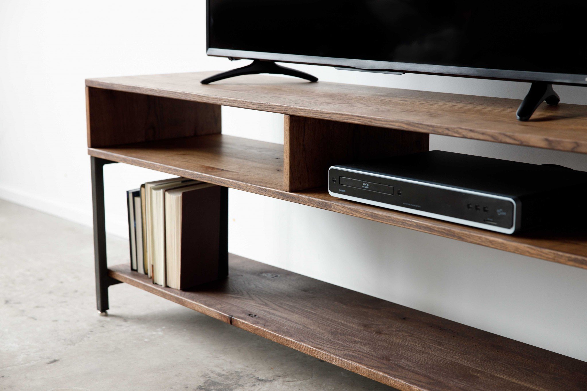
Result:
<svg viewBox="0 0 587 391"><path fill-rule="evenodd" d="M220 113L216 104L86 87L87 146L219 134Z"/></svg>

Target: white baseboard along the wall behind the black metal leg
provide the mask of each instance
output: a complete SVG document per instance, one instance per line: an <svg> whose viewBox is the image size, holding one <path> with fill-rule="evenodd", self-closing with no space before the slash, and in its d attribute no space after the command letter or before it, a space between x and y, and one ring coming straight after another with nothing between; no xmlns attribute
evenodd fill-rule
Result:
<svg viewBox="0 0 587 391"><path fill-rule="evenodd" d="M46 199L45 197L32 195L30 193L26 193L17 189L11 189L2 185L0 185L0 199L16 203L17 205L26 206L26 208L39 210L39 212L60 217L62 219L69 220L87 227L93 226L91 207L90 210L76 208L75 206L68 205L57 200ZM126 219L117 219L119 221L109 221L112 220L113 216L109 217L106 218L107 233L123 238L128 237L129 226Z"/></svg>

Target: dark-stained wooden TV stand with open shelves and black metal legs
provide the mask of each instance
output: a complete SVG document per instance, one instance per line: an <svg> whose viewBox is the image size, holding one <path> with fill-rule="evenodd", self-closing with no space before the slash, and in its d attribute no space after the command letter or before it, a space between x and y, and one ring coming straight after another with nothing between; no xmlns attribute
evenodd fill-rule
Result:
<svg viewBox="0 0 587 391"><path fill-rule="evenodd" d="M429 134L585 154L587 107L542 105L521 123L512 99L271 76L200 84L214 73L86 80L100 312L124 282L400 390L586 389L586 362L242 257L193 291L107 268L113 162L587 268L586 232L508 236L333 198L325 183L329 165L426 151ZM221 106L285 114L284 145L222 135Z"/></svg>

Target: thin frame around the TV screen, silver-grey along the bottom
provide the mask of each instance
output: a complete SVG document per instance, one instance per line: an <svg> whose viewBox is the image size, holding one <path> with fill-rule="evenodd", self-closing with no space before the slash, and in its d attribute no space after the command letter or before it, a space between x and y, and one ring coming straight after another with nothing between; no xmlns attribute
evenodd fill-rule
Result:
<svg viewBox="0 0 587 391"><path fill-rule="evenodd" d="M248 50L210 47L210 0L206 0L206 54L208 56L229 57L231 59L268 60L294 64L335 66L349 69L368 70L370 72L420 73L509 81L546 81L551 84L587 86L587 74L527 72L520 70L340 59L335 57L316 57L272 52L250 52Z"/></svg>

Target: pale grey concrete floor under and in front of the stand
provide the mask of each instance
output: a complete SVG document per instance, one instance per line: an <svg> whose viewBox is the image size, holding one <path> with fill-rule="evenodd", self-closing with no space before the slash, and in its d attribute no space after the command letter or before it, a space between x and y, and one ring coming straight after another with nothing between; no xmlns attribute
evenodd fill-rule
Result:
<svg viewBox="0 0 587 391"><path fill-rule="evenodd" d="M100 317L93 267L90 228L0 200L0 389L391 390L127 284Z"/></svg>

